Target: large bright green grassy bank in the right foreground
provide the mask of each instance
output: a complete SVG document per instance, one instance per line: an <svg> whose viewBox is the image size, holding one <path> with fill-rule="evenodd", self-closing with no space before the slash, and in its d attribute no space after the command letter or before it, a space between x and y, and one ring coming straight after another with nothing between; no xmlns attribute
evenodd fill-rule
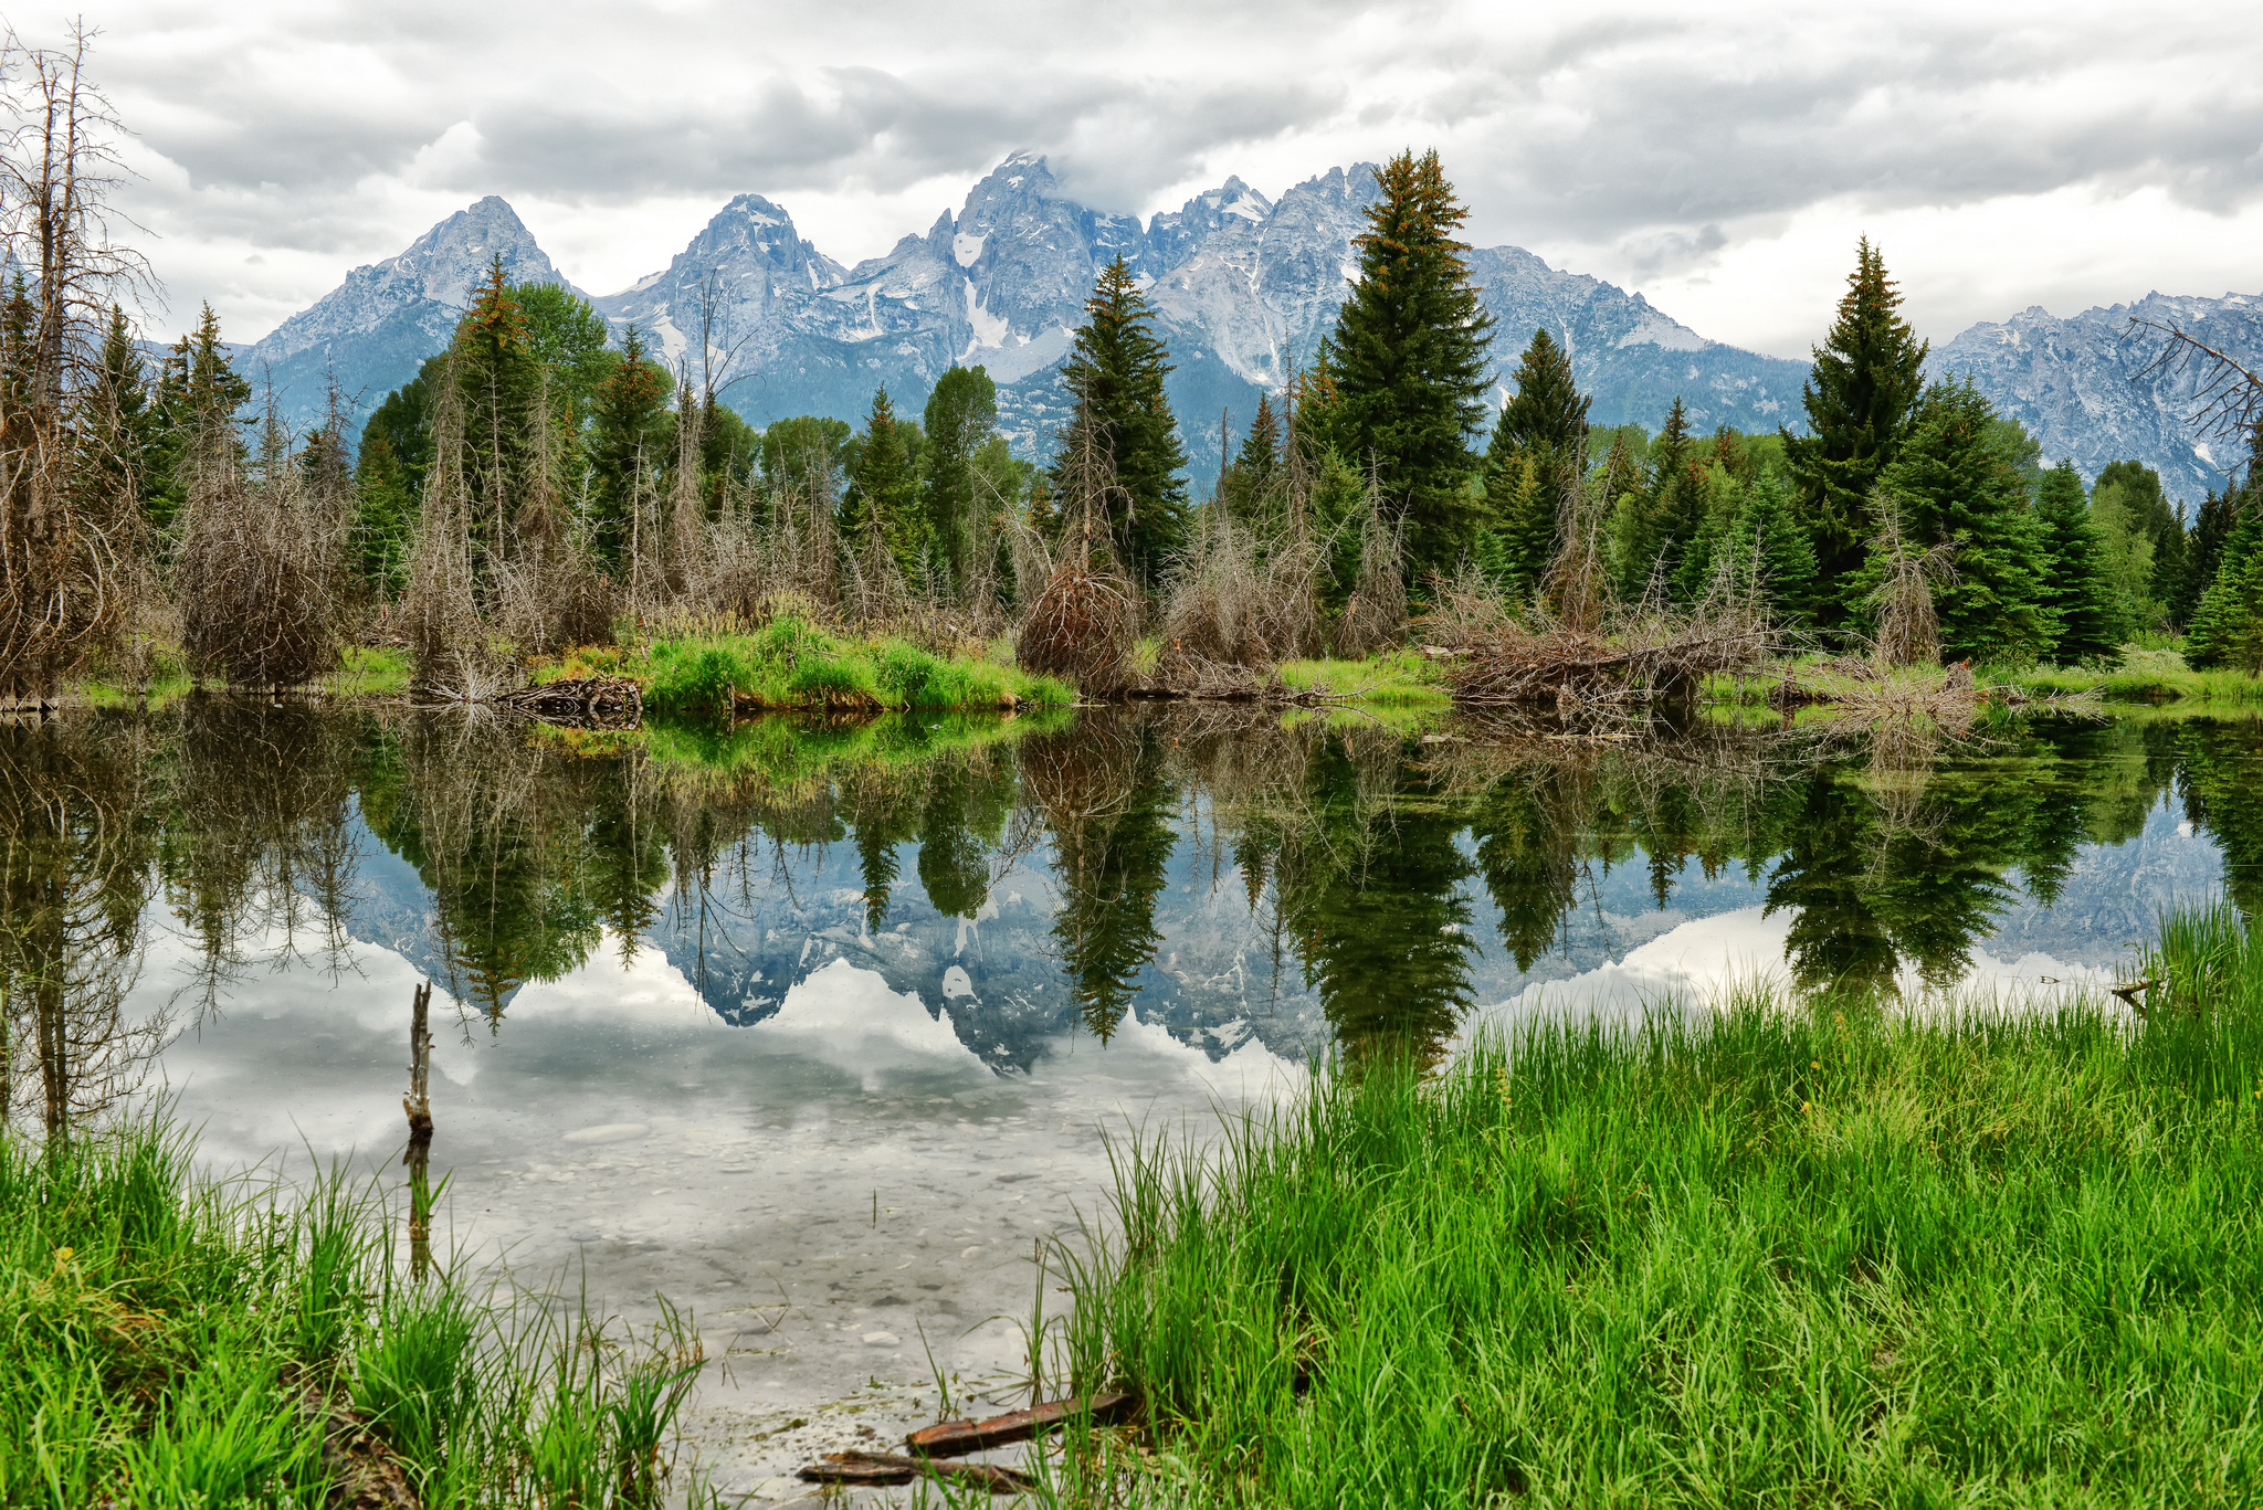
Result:
<svg viewBox="0 0 2263 1510"><path fill-rule="evenodd" d="M2209 996L1752 994L1322 1075L1122 1166L1075 1367L1204 1503L2252 1503L2263 949L2215 910L2148 969Z"/></svg>

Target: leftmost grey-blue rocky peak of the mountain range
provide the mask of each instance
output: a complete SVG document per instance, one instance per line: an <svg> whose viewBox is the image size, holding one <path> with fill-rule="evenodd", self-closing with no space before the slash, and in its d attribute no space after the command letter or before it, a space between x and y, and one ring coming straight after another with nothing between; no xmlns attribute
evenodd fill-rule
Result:
<svg viewBox="0 0 2263 1510"><path fill-rule="evenodd" d="M330 376L349 407L367 414L448 344L496 256L514 283L566 283L518 213L489 195L419 235L401 256L349 272L344 283L238 355L235 369L256 387L274 383L294 426L321 419Z"/></svg>

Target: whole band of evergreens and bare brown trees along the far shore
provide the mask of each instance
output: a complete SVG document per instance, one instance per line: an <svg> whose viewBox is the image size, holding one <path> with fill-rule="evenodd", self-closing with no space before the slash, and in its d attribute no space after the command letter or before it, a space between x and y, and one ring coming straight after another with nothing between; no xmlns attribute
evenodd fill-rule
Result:
<svg viewBox="0 0 2263 1510"><path fill-rule="evenodd" d="M1598 595L1675 611L1736 591L1833 645L1874 629L1908 561L1951 661L2080 663L2186 634L2200 666L2263 666L2263 473L2249 462L2191 516L2136 462L2086 484L1971 383L1926 378L1867 242L1797 432L1706 435L1681 398L1657 435L1589 426L1546 328L1494 407L1466 211L1435 152L1405 152L1378 170L1333 331L1202 496L1122 260L1059 367L1070 417L1036 437L1048 464L1014 455L980 367L944 371L917 414L880 389L862 426L754 430L729 407L742 374L711 340L713 288L668 355L559 285L509 283L500 258L448 349L367 421L333 392L292 435L210 308L152 360L124 312L147 269L104 211L115 122L84 48L25 57L9 229L38 256L0 308L16 697L93 672L147 684L174 657L285 686L358 641L484 695L629 625L781 611L944 645L1018 634L1032 670L1091 681L1122 652L1079 638L1154 634L1181 670L1365 654L1448 586L1532 618L1566 593L1591 616Z"/></svg>

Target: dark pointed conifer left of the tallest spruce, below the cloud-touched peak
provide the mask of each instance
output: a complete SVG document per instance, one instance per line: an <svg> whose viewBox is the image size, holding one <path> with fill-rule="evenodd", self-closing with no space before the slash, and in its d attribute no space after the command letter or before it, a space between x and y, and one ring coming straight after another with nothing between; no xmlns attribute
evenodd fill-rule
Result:
<svg viewBox="0 0 2263 1510"><path fill-rule="evenodd" d="M1163 396L1170 353L1150 328L1154 312L1125 267L1122 256L1100 272L1084 301L1084 324L1061 364L1061 387L1075 417L1061 437L1052 478L1061 494L1075 491L1086 451L1113 475L1107 525L1125 555L1125 566L1156 586L1170 555L1186 539L1186 448L1179 421Z"/></svg>

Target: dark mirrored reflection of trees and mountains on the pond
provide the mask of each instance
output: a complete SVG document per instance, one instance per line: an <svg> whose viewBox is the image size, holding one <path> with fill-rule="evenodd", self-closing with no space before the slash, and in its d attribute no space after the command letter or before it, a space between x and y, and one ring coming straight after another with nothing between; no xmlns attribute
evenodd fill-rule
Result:
<svg viewBox="0 0 2263 1510"><path fill-rule="evenodd" d="M0 1098L54 1127L138 1084L179 1026L124 1010L154 926L195 960L177 1019L364 942L505 1032L520 987L611 942L733 1026L851 960L993 1071L1132 1010L1213 1055L1437 1053L1480 1001L1754 906L1804 985L1946 985L2007 928L2111 964L2172 896L2263 903L2258 772L2263 724L2204 720L2039 722L1935 761L1186 706L579 733L190 697L11 722Z"/></svg>

